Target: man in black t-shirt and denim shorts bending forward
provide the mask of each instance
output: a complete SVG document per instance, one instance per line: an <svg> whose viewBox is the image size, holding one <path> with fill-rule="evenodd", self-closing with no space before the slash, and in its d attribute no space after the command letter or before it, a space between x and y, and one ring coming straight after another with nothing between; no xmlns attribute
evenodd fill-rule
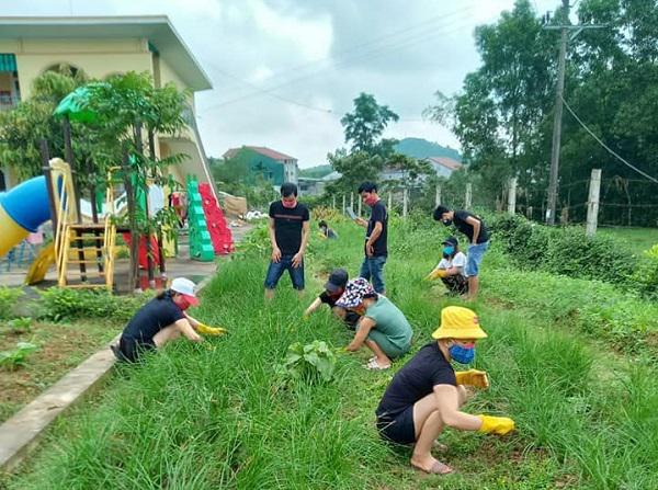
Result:
<svg viewBox="0 0 658 490"><path fill-rule="evenodd" d="M434 219L442 221L445 226L454 225L468 238L468 255L464 267L464 274L468 278L466 299L474 300L479 288L479 264L489 248L489 230L481 218L464 209L455 210L445 206L436 206Z"/></svg>

